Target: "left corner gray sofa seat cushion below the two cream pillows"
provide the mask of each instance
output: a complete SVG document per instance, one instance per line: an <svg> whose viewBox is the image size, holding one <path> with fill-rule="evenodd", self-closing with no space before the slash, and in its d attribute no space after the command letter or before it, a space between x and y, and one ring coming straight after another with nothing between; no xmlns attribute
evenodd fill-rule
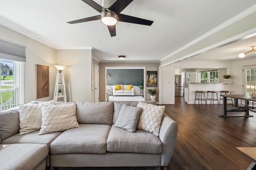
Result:
<svg viewBox="0 0 256 170"><path fill-rule="evenodd" d="M6 143L36 143L36 144L45 144L48 146L48 152L50 152L50 144L58 135L60 135L62 132L54 132L54 133L47 133L44 135L38 135L38 131L34 131L31 133L27 133L24 135L19 135L18 133L16 135L13 135L11 137L8 137L7 139L2 141L2 144Z"/></svg>

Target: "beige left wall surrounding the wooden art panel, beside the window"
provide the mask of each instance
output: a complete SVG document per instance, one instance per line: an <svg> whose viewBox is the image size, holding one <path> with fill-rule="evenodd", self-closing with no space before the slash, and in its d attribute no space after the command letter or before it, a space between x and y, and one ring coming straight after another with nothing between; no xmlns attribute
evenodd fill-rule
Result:
<svg viewBox="0 0 256 170"><path fill-rule="evenodd" d="M56 49L44 45L34 39L26 37L0 25L0 37L26 45L26 63L24 64L24 103L36 100L36 64L49 66L49 97L38 100L53 99L56 78Z"/></svg>

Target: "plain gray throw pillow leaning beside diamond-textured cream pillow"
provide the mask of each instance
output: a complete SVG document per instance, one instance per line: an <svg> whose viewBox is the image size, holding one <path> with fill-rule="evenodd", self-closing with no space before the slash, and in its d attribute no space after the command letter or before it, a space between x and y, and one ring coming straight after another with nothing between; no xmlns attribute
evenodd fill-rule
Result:
<svg viewBox="0 0 256 170"><path fill-rule="evenodd" d="M141 107L133 107L123 104L117 117L115 127L126 129L129 132L135 132L141 112Z"/></svg>

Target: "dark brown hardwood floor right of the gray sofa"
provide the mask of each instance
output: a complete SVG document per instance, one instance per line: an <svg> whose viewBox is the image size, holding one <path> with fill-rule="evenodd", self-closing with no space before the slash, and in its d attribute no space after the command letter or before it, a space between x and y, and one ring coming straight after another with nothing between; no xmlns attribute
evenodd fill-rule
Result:
<svg viewBox="0 0 256 170"><path fill-rule="evenodd" d="M247 118L219 117L222 104L187 104L183 97L164 106L164 112L178 122L166 170L246 170L251 164L235 147L256 147L256 113Z"/></svg>

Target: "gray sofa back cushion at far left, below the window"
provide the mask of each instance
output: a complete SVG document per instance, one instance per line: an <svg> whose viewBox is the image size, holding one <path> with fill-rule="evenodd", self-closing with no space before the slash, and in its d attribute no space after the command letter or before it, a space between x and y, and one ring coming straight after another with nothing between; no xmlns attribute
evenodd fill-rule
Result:
<svg viewBox="0 0 256 170"><path fill-rule="evenodd" d="M0 111L0 141L18 133L19 123L18 107Z"/></svg>

